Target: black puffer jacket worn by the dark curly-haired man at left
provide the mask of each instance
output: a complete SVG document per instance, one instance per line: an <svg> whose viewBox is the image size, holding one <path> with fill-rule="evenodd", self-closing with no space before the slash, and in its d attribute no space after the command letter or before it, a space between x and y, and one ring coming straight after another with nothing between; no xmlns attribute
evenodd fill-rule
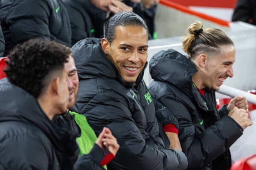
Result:
<svg viewBox="0 0 256 170"><path fill-rule="evenodd" d="M96 144L76 161L72 120L53 124L33 96L7 79L0 80L0 103L0 170L103 169L104 155Z"/></svg>

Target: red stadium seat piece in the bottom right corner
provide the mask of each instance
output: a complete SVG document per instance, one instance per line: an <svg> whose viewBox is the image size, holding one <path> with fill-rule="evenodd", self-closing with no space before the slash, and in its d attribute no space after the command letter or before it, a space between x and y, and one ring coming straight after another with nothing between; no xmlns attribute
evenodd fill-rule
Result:
<svg viewBox="0 0 256 170"><path fill-rule="evenodd" d="M256 170L256 155L236 161L230 170Z"/></svg>

